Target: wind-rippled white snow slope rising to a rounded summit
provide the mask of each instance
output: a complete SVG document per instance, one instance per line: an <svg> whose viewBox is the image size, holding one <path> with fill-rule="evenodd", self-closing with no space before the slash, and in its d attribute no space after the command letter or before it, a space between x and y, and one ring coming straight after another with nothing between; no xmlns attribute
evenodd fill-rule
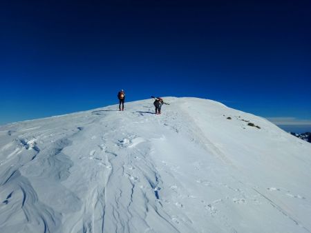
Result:
<svg viewBox="0 0 311 233"><path fill-rule="evenodd" d="M1 126L0 232L311 232L310 143L164 100Z"/></svg>

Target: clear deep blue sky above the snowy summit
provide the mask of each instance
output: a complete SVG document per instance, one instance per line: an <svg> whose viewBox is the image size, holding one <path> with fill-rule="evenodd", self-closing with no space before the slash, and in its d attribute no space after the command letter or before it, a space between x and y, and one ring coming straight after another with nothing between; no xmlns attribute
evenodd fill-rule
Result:
<svg viewBox="0 0 311 233"><path fill-rule="evenodd" d="M0 124L151 95L311 121L310 1L7 1Z"/></svg>

